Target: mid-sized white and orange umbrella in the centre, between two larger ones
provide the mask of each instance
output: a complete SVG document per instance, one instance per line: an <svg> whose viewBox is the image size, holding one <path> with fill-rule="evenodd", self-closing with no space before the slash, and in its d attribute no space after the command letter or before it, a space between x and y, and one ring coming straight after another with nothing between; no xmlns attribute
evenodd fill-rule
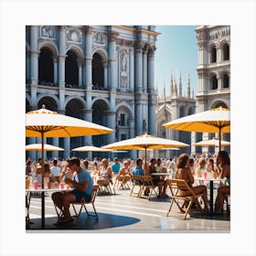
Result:
<svg viewBox="0 0 256 256"><path fill-rule="evenodd" d="M163 148L170 148L170 147L185 147L185 146L188 146L188 144L155 137L153 135L149 135L145 133L144 135L136 136L133 139L123 140L121 142L102 146L102 148L115 149L115 150L144 149L145 159L146 159L147 149L163 149Z"/></svg>

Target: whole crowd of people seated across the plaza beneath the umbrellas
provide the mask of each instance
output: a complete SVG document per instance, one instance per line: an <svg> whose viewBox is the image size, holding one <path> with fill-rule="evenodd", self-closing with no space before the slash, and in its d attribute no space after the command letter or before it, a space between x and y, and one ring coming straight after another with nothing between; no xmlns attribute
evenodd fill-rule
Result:
<svg viewBox="0 0 256 256"><path fill-rule="evenodd" d="M26 176L41 174L42 165L44 164L44 176L49 178L49 181L63 182L69 187L73 187L70 192L56 192L52 194L52 200L55 205L63 210L63 216L58 222L67 223L72 221L69 214L69 204L79 202L83 197L85 200L90 200L91 190L93 185L93 176L97 176L97 183L101 186L108 186L112 179L116 179L125 184L131 180L131 176L152 176L152 181L155 187L158 187L158 197L167 197L167 183L165 176L154 176L154 173L170 173L172 178L185 179L189 187L192 188L195 194L203 195L204 211L208 212L208 189L203 183L196 184L194 176L210 176L226 178L226 183L220 183L215 201L215 212L220 214L223 212L224 200L230 193L230 160L229 154L225 151L220 151L219 155L212 157L204 157L205 155L189 156L181 154L173 159L155 159L144 161L144 159L123 159L117 157L113 160L103 158L93 160L80 159L77 157L69 158L68 160L45 161L38 159L38 162L27 159ZM134 181L135 182L135 181ZM148 195L149 191L145 190L144 194ZM180 191L184 196L188 196L188 191Z"/></svg>

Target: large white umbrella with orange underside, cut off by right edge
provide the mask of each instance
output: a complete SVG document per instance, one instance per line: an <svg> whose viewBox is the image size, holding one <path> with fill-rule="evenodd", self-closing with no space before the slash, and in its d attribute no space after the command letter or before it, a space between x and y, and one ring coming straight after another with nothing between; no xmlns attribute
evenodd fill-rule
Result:
<svg viewBox="0 0 256 256"><path fill-rule="evenodd" d="M197 133L219 133L219 148L221 147L221 133L230 133L229 109L219 107L207 112L197 112L176 119L163 125L165 128L174 130L197 132Z"/></svg>

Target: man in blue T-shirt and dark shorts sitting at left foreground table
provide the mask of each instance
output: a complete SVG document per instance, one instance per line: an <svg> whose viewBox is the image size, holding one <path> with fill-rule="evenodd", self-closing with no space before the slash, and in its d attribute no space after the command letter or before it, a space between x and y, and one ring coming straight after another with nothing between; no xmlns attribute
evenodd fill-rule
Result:
<svg viewBox="0 0 256 256"><path fill-rule="evenodd" d="M58 219L58 224L65 224L73 221L69 205L71 203L80 202L82 198L85 201L91 200L91 192L93 188L93 181L91 175L87 170L80 167L80 159L77 157L68 160L69 169L72 173L76 173L76 180L66 178L65 183L73 187L72 191L55 192L51 198L54 204L63 212L63 218Z"/></svg>

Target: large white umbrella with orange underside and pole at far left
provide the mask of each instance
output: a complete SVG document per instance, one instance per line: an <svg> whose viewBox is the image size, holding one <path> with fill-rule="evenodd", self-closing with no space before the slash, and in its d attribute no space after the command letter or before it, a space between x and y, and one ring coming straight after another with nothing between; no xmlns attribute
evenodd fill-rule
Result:
<svg viewBox="0 0 256 256"><path fill-rule="evenodd" d="M44 163L45 137L75 137L112 133L113 130L96 123L42 109L26 113L26 137L41 137L42 163ZM44 165L42 165L42 187L44 187Z"/></svg>

